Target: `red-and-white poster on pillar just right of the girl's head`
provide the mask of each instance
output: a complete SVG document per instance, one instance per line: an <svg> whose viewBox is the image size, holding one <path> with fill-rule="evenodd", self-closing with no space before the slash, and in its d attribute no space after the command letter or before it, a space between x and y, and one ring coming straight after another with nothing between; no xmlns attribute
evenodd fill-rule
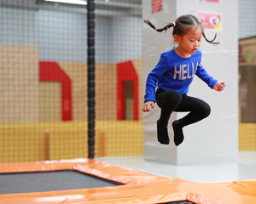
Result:
<svg viewBox="0 0 256 204"><path fill-rule="evenodd" d="M202 20L201 25L204 28L221 31L221 15L220 14L198 13L197 17L199 20Z"/></svg>

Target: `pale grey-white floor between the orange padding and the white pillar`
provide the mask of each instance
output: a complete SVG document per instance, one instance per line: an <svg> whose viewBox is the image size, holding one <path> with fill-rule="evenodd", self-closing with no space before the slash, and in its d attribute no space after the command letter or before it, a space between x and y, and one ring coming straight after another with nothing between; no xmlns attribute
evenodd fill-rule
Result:
<svg viewBox="0 0 256 204"><path fill-rule="evenodd" d="M96 160L159 176L182 178L200 183L256 180L256 151L239 152L239 162L237 163L191 166L172 166L154 161L144 161L143 156L99 157Z"/></svg>

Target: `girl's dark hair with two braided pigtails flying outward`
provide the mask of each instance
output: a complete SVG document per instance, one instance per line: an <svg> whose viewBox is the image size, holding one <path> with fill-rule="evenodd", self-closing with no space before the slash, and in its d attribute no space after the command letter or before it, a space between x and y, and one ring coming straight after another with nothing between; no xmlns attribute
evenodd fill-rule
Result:
<svg viewBox="0 0 256 204"><path fill-rule="evenodd" d="M167 31L169 28L173 27L172 36L183 36L193 26L200 26L202 36L206 39L207 42L213 45L219 44L219 42L214 42L217 37L217 34L215 33L215 36L213 37L212 40L208 40L205 35L203 26L201 26L201 20L198 20L194 15L191 14L182 15L178 17L177 20L175 20L175 22L169 23L160 29L157 29L149 20L144 20L144 23L148 24L148 26L154 28L155 31L159 32Z"/></svg>

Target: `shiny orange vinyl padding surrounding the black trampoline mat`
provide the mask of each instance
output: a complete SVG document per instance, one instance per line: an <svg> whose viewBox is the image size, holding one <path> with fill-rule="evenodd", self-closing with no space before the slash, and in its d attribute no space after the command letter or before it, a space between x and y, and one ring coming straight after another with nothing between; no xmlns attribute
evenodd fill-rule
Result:
<svg viewBox="0 0 256 204"><path fill-rule="evenodd" d="M91 159L0 164L0 173L58 170L88 173L124 185L79 190L2 194L0 195L0 203L147 204L172 201L190 201L196 204L256 203L256 181L201 184L180 178L155 176L125 167L114 167L102 161Z"/></svg>

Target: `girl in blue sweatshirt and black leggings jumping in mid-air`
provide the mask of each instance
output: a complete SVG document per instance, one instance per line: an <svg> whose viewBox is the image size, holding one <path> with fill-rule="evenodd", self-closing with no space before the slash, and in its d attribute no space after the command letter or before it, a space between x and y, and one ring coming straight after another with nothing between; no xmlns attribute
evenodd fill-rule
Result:
<svg viewBox="0 0 256 204"><path fill-rule="evenodd" d="M201 65L201 50L199 50L201 36L210 44L215 45L219 42L214 42L216 35L212 40L208 40L201 21L191 14L182 15L175 22L161 29L155 28L148 20L144 22L159 32L173 27L172 36L177 47L161 54L158 64L148 74L143 111L152 111L155 102L160 107L157 139L161 144L170 142L167 124L172 111L188 111L187 116L172 122L174 143L179 145L183 142L183 127L201 121L211 112L210 106L205 101L187 95L194 76L200 77L210 88L218 92L225 88L225 82L210 77Z"/></svg>

